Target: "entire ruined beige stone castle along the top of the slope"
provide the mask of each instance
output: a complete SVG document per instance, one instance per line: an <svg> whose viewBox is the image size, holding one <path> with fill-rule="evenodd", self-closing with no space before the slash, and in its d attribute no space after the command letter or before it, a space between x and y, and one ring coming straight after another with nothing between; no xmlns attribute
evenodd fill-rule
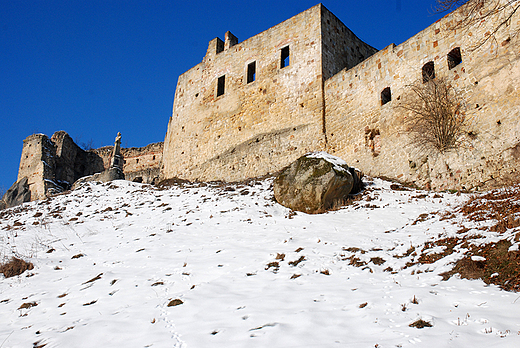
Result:
<svg viewBox="0 0 520 348"><path fill-rule="evenodd" d="M179 77L164 148L121 150L125 177L238 181L327 151L368 175L435 190L516 183L520 17L478 45L500 14L450 29L461 16L459 8L381 51L322 4L243 42L227 32ZM430 78L457 91L471 121L455 151L424 153L410 141L400 105L410 86ZM18 179L33 183L31 199L110 166L111 147L85 152L63 133L24 141Z"/></svg>

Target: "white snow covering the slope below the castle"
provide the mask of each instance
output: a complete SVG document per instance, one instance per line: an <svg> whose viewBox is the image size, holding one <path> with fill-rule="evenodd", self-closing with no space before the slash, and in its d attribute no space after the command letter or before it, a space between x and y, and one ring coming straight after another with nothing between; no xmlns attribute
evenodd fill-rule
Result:
<svg viewBox="0 0 520 348"><path fill-rule="evenodd" d="M519 294L439 276L464 250L407 267L412 247L456 235L469 196L374 179L352 205L307 215L271 183L86 183L6 211L0 256L35 268L0 278L0 347L520 345Z"/></svg>

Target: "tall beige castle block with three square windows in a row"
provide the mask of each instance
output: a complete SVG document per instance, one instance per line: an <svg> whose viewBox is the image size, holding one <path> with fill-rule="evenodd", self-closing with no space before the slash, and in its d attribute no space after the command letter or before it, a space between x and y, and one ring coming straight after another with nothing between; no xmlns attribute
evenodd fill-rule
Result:
<svg viewBox="0 0 520 348"><path fill-rule="evenodd" d="M229 32L225 42L212 40L202 63L179 77L162 176L236 181L276 172L309 151L325 149L324 24L336 29L330 36L342 48L327 55L327 74L375 51L321 4L241 43ZM365 56L349 56L350 46ZM287 49L289 65L282 67ZM335 59L344 53L345 59ZM252 63L256 74L250 82ZM225 91L219 95L223 77Z"/></svg>

